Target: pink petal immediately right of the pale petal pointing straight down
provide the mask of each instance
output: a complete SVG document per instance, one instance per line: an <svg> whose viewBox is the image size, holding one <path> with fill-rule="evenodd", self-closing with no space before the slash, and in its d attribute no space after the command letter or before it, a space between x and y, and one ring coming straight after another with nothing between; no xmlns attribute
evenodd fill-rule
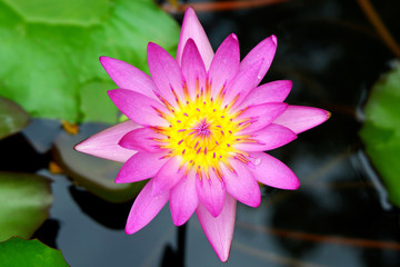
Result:
<svg viewBox="0 0 400 267"><path fill-rule="evenodd" d="M221 165L223 181L229 195L250 207L258 207L261 202L260 187L251 176L248 167L236 159L228 160L233 171Z"/></svg>

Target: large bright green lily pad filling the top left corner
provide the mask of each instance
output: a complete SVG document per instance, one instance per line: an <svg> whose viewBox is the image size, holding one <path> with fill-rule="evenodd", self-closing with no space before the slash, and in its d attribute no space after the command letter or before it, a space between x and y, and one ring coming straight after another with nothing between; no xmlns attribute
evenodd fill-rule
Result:
<svg viewBox="0 0 400 267"><path fill-rule="evenodd" d="M34 117L114 123L98 58L148 72L148 42L173 53L179 27L152 0L0 0L0 39L1 96Z"/></svg>

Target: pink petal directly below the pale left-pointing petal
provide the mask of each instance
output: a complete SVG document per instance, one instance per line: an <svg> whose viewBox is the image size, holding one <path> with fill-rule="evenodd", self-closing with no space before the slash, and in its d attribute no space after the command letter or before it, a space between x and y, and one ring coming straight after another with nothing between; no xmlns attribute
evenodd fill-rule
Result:
<svg viewBox="0 0 400 267"><path fill-rule="evenodd" d="M116 182L134 182L154 177L167 162L167 159L160 159L161 157L162 154L137 152L122 166L117 175Z"/></svg>

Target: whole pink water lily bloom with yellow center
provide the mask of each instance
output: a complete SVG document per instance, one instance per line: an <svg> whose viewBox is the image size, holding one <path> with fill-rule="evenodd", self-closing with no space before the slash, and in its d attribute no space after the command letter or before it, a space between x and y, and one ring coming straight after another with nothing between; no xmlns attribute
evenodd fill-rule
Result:
<svg viewBox="0 0 400 267"><path fill-rule="evenodd" d="M169 200L177 226L196 211L212 248L226 261L237 200L258 207L258 182L299 187L296 175L263 151L294 140L326 121L329 112L284 103L291 81L258 86L276 49L277 38L271 36L240 62L238 38L230 34L213 53L194 11L188 9L176 59L149 43L151 78L118 59L100 58L120 88L109 96L129 120L76 149L124 162L116 182L150 178L130 210L127 234L143 228Z"/></svg>

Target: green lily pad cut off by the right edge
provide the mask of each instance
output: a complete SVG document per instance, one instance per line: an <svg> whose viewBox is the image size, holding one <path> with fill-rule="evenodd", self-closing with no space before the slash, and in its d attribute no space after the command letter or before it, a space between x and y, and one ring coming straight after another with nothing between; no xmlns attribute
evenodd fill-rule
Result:
<svg viewBox="0 0 400 267"><path fill-rule="evenodd" d="M366 151L387 187L390 200L400 207L400 66L372 87L360 131Z"/></svg>

